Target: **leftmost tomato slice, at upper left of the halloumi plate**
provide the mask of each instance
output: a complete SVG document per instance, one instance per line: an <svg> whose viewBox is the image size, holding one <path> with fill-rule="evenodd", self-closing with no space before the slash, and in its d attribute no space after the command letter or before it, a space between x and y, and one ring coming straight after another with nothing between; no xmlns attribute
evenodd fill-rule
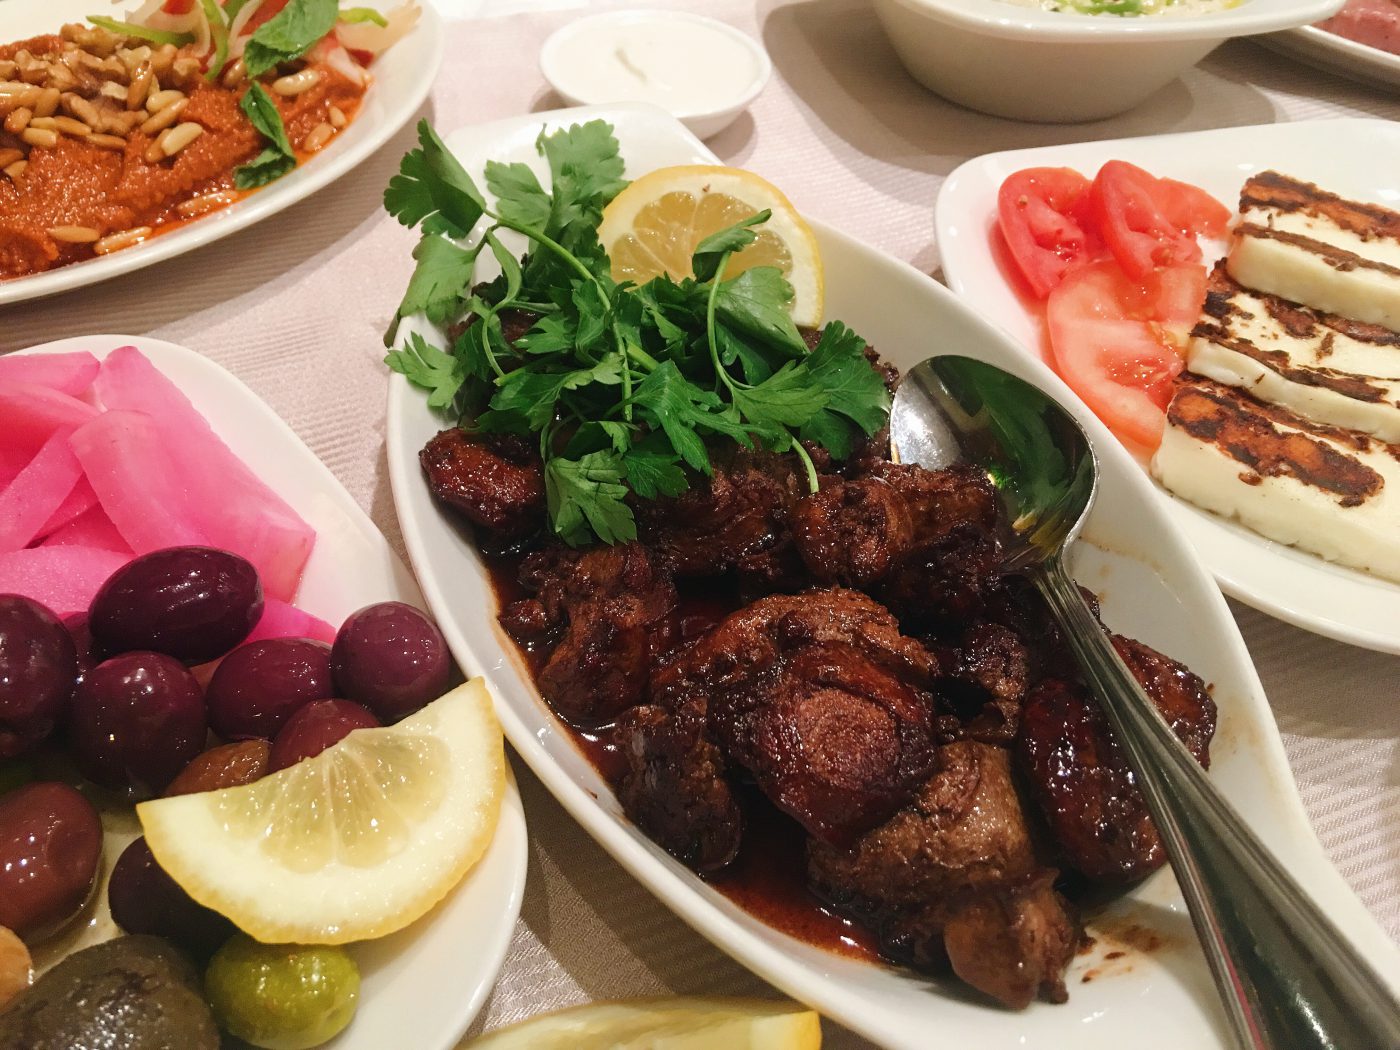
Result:
<svg viewBox="0 0 1400 1050"><path fill-rule="evenodd" d="M997 224L1011 258L1037 298L1071 266L1088 260L1098 238L1088 228L1089 181L1072 168L1026 168L997 193Z"/></svg>

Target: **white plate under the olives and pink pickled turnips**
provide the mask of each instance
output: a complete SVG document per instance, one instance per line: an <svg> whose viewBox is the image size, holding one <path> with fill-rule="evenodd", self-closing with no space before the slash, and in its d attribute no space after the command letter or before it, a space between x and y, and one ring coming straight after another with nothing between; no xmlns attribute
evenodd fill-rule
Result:
<svg viewBox="0 0 1400 1050"><path fill-rule="evenodd" d="M105 357L136 346L193 402L214 431L252 470L316 529L316 546L297 605L336 624L371 602L423 608L413 574L374 522L301 438L242 382L213 361L174 343L133 336L83 336L20 353L90 350ZM346 571L354 566L354 571ZM113 827L106 869L136 833ZM351 946L361 970L360 1008L330 1050L447 1050L454 1046L496 983L525 890L525 812L511 780L496 837L466 879L406 930ZM99 902L106 890L99 890ZM116 932L99 904L88 925L45 946L38 962Z"/></svg>

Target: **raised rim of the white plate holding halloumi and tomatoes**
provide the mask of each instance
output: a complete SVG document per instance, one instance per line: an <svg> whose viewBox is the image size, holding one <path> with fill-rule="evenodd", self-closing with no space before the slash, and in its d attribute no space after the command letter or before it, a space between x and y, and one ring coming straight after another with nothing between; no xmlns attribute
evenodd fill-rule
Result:
<svg viewBox="0 0 1400 1050"><path fill-rule="evenodd" d="M1319 31L1320 32L1320 31ZM1123 147L1131 148L1140 143L1161 143L1161 144L1189 144L1198 143L1201 137L1217 137L1222 141L1229 140L1240 133L1295 133L1296 129L1303 129L1303 132L1319 130L1323 127L1336 129L1338 125L1348 125L1354 129L1364 130L1366 127L1385 129L1385 133L1394 137L1397 132L1397 125L1393 120L1386 120L1373 116L1344 116L1344 118L1320 118L1315 120L1294 120L1285 123L1268 123L1268 125L1247 125L1243 127L1210 127L1197 132L1170 132L1166 134L1145 134L1145 136L1131 136L1120 139L1105 139L1105 140L1086 140L1086 141L1072 141L1072 143L1058 143L1051 146L1032 146L1016 150L998 150L995 153L981 154L979 157L972 157L956 168L953 168L948 176L944 179L938 189L938 197L934 204L934 237L938 244L938 258L942 267L944 277L948 281L948 287L962 298L972 309L986 316L986 304L977 294L977 288L970 286L966 273L962 267L970 266L972 259L976 252L963 252L960 245L970 244L970 238L962 235L949 237L949 230L963 225L959 221L959 216L955 214L955 207L958 207L958 197L963 192L963 186L969 182L974 182L979 186L986 186L987 179L984 172L988 167L994 164L1009 162L1015 164L1012 158L1018 155L1035 157L1035 160L1028 160L1028 164L1042 164L1046 161L1046 154L1060 154L1063 150L1078 150L1078 148L1092 148L1103 154L1107 160L1113 151ZM1053 162L1053 161L1049 161ZM1022 164L1021 167L1026 167ZM976 217L980 221L980 217ZM980 256L979 256L980 258ZM993 322L998 328L998 322ZM1025 347L1021 339L1005 332L1008 339L1015 343L1021 351L1035 360L1042 360L1040 356ZM1144 469L1144 473L1147 470ZM1336 566L1327 563L1324 559L1310 554L1308 552L1298 550L1296 547L1289 547L1287 545L1277 543L1264 536L1260 536L1252 531L1245 529L1238 522L1231 522L1228 519L1219 518L1218 515L1204 511L1184 500L1168 493L1156 479L1148 475L1149 482L1158 493L1158 497L1165 501L1169 515L1173 518L1177 529L1180 529L1187 540L1196 547L1197 556L1201 563L1207 567L1215 581L1219 584L1231 598L1235 598L1253 609L1257 609L1267 616L1271 616L1284 623L1289 623L1295 627L1306 630L1312 634L1317 634L1334 641L1341 641L1350 645L1358 645L1361 648L1372 650L1376 652L1389 652L1400 655L1400 627L1394 631L1386 633L1383 630L1376 630L1369 627L1366 623L1348 623L1344 620L1337 620L1334 616L1329 616L1326 612L1312 612L1308 609L1299 609L1296 606L1285 605L1280 599L1270 598L1267 591L1257 585L1250 585L1243 582L1238 571L1235 571L1228 564L1217 566L1217 559L1210 557L1203 553L1200 543L1196 539L1198 529L1228 529L1232 533L1239 533L1240 538L1250 543L1260 554L1267 554L1268 559L1275 560L1280 567L1287 567L1294 557L1308 559L1310 563L1334 571L1338 578L1347 584L1354 584L1357 587L1364 585L1382 585L1385 588L1396 588L1396 594L1400 595L1400 584L1393 581L1386 581L1382 577L1375 577L1371 574L1361 573L1359 570L1352 570L1345 566ZM1354 580L1352 580L1354 578Z"/></svg>

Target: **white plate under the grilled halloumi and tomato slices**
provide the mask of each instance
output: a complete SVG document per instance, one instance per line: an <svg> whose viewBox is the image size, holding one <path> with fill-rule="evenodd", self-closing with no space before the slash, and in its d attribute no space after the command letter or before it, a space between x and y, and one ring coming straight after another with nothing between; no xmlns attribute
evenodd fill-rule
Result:
<svg viewBox="0 0 1400 1050"><path fill-rule="evenodd" d="M1365 162L1358 164L1357 157ZM1232 209L1245 179L1267 168L1344 196L1400 204L1400 185L1394 181L1400 126L1389 120L1229 127L979 157L949 175L938 196L934 225L944 274L970 307L995 318L1033 354L1043 346L1040 321L1012 291L993 253L997 188L1011 172L1043 164L1078 168L1092 176L1110 158L1193 182ZM1274 543L1159 491L1172 521L1196 545L1226 594L1330 638L1400 652L1400 585Z"/></svg>

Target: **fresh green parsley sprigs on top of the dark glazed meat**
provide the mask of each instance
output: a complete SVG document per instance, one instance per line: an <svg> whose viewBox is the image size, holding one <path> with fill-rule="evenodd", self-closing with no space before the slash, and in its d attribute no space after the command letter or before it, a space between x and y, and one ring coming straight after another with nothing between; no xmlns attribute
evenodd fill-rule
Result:
<svg viewBox="0 0 1400 1050"><path fill-rule="evenodd" d="M419 148L384 193L392 216L423 231L385 343L413 314L469 323L451 347L413 335L385 361L469 428L538 441L550 525L564 542L634 539L631 503L679 496L694 473L711 473L710 444L791 451L815 491L802 441L844 459L883 426L889 395L860 336L832 323L808 353L780 270L727 274L769 213L707 237L693 277L619 284L598 242L603 206L626 185L612 129L574 125L542 133L536 148L550 188L525 164L493 161L489 204L419 125ZM504 231L526 239L521 258ZM476 281L482 252L500 267L487 284ZM501 315L517 309L535 321L507 342Z"/></svg>

